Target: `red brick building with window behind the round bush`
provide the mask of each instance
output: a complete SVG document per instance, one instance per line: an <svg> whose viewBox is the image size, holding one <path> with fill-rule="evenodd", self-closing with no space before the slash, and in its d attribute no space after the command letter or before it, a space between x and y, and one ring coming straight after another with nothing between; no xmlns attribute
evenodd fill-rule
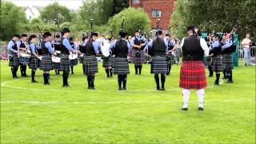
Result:
<svg viewBox="0 0 256 144"><path fill-rule="evenodd" d="M174 0L129 0L129 5L134 8L142 7L149 15L151 29L157 26L160 19L159 28L168 31L170 28L170 15L174 10Z"/></svg>

